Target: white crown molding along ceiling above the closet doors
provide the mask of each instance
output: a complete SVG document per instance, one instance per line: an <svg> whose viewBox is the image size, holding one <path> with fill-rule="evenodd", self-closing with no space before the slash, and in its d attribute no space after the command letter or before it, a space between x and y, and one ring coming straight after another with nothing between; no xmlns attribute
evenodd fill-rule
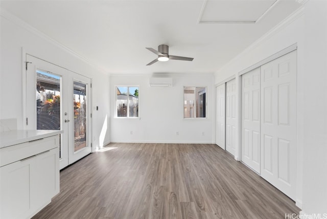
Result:
<svg viewBox="0 0 327 219"><path fill-rule="evenodd" d="M298 0L298 1L302 1L302 2L307 2L308 0ZM278 33L279 31L283 30L285 27L289 26L290 24L293 23L293 21L295 21L297 18L299 18L300 16L302 16L304 14L304 7L303 5L298 8L296 11L294 11L292 14L290 14L288 17L286 17L283 21L281 21L279 24L277 24L275 27L273 27L272 29L270 29L267 33L265 33L263 36L261 36L259 39L257 39L256 41L254 41L250 46L248 46L245 50L243 50L241 53L239 53L237 56L235 56L234 58L232 58L230 61L228 61L222 68L218 69L215 74L221 72L226 66L228 66L229 64L233 63L235 60L239 59L241 56L243 56L244 54L246 54L247 52L251 51L252 49L258 47L260 45L260 43L262 43L263 41L269 39L270 37L272 37L273 35L275 35L276 33Z"/></svg>

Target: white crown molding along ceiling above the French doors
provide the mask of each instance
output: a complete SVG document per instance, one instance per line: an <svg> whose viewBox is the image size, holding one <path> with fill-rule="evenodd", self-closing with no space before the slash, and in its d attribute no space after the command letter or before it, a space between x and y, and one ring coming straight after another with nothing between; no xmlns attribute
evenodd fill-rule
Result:
<svg viewBox="0 0 327 219"><path fill-rule="evenodd" d="M33 26L29 25L28 23L26 23L24 20L21 20L20 18L16 17L15 15L11 14L10 12L8 12L7 10L5 10L4 8L1 8L0 10L0 16L11 21L13 24L37 35L38 37L52 43L52 45L60 48L61 50L67 52L68 54L78 58L79 60L91 65L91 67L96 68L97 70L99 70L102 73L107 74L107 71L105 69L103 69L101 66L99 66L98 64L90 61L89 59L85 58L84 56L78 54L77 52L75 52L72 49L69 49L68 47L62 45L60 42L58 42L57 40L55 40L54 38L50 37L49 35L46 35L45 33L39 31L38 29L34 28Z"/></svg>

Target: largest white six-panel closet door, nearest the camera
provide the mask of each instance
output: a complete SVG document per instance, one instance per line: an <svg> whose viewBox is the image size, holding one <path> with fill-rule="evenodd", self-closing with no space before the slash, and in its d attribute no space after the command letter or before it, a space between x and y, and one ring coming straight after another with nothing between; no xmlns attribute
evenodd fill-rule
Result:
<svg viewBox="0 0 327 219"><path fill-rule="evenodd" d="M295 199L296 51L261 67L261 176Z"/></svg>

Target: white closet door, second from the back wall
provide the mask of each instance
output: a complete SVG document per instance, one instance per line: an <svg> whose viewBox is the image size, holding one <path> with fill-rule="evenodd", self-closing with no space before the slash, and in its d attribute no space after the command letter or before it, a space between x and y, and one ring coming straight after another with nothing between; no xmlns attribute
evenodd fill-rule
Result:
<svg viewBox="0 0 327 219"><path fill-rule="evenodd" d="M226 150L235 156L236 149L236 80L226 83Z"/></svg>

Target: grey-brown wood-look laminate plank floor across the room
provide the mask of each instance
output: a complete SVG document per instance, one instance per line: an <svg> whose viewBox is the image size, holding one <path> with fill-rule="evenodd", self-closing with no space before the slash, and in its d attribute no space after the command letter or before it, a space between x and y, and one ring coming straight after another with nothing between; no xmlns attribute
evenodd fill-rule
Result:
<svg viewBox="0 0 327 219"><path fill-rule="evenodd" d="M33 218L284 218L295 203L213 144L111 143Z"/></svg>

